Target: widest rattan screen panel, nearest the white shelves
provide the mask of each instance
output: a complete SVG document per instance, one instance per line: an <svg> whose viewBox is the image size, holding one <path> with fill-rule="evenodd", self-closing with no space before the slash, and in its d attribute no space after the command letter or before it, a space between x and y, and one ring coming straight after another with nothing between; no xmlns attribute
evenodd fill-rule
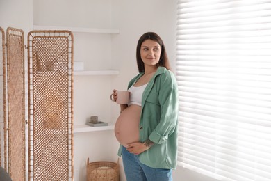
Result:
<svg viewBox="0 0 271 181"><path fill-rule="evenodd" d="M73 180L73 36L28 33L29 180Z"/></svg>

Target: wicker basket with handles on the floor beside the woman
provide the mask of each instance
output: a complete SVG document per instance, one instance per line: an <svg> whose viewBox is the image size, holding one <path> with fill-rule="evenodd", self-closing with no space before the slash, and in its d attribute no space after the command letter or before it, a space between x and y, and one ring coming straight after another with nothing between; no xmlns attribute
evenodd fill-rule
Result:
<svg viewBox="0 0 271 181"><path fill-rule="evenodd" d="M119 159L114 162L87 162L88 181L119 181Z"/></svg>

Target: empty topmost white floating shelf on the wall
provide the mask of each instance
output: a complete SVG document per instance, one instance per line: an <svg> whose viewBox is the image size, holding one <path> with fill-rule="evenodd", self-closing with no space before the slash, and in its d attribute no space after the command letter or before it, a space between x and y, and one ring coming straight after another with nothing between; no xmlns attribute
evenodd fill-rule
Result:
<svg viewBox="0 0 271 181"><path fill-rule="evenodd" d="M69 30L72 32L81 33L110 33L118 34L120 29L91 29L91 28L80 28L80 27L69 27L69 26L33 26L35 30Z"/></svg>

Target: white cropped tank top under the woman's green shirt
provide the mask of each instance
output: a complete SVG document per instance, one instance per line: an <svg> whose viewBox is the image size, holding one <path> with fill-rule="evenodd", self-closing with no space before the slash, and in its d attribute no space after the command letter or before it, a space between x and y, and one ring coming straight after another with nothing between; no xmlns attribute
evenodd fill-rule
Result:
<svg viewBox="0 0 271 181"><path fill-rule="evenodd" d="M147 84L144 84L142 86L131 86L128 91L130 92L129 95L129 102L128 102L128 106L130 106L131 104L136 104L138 106L141 106L141 102L142 102L142 94L143 91L145 90Z"/></svg>

